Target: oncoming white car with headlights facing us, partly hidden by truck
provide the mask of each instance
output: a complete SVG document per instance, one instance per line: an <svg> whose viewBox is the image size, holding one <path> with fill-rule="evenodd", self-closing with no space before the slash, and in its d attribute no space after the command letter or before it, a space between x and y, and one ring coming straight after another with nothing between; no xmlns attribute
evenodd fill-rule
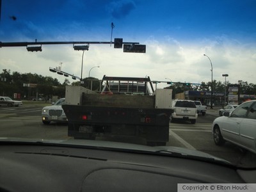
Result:
<svg viewBox="0 0 256 192"><path fill-rule="evenodd" d="M62 104L65 104L65 98L59 99L52 106L44 107L42 109L42 122L44 124L50 124L51 122L67 122L67 116L61 108Z"/></svg>

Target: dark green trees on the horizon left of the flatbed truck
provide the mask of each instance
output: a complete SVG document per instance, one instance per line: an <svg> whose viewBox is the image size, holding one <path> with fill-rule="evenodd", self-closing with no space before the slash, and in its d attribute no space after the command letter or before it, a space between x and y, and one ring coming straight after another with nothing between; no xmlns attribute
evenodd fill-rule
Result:
<svg viewBox="0 0 256 192"><path fill-rule="evenodd" d="M91 83L88 83L89 79L95 79L93 77L88 77L83 79L84 86L86 88L91 88ZM95 82L98 82L95 83ZM93 82L93 89L99 87L99 81ZM52 95L57 95L58 97L65 97L65 86L66 85L78 85L80 81L70 83L68 79L61 84L58 79L51 76L41 76L38 74L25 73L21 74L19 72L12 72L7 69L3 69L0 74L0 95L8 96L13 98L14 93L20 94L20 99L44 99L48 100Z"/></svg>

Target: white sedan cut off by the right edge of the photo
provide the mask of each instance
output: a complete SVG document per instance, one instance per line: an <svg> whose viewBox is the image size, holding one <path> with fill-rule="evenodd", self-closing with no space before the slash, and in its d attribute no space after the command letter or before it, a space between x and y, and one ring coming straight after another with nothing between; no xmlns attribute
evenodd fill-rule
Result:
<svg viewBox="0 0 256 192"><path fill-rule="evenodd" d="M216 145L230 141L256 153L256 100L244 102L232 112L224 112L212 123Z"/></svg>

